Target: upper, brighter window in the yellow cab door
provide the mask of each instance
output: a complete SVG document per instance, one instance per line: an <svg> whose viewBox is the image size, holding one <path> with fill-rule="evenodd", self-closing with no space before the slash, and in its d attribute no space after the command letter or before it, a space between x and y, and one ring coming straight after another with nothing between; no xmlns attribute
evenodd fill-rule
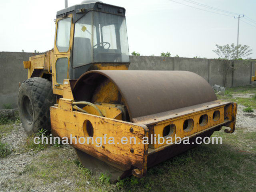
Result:
<svg viewBox="0 0 256 192"><path fill-rule="evenodd" d="M58 21L56 46L59 52L68 52L70 42L71 17Z"/></svg>

